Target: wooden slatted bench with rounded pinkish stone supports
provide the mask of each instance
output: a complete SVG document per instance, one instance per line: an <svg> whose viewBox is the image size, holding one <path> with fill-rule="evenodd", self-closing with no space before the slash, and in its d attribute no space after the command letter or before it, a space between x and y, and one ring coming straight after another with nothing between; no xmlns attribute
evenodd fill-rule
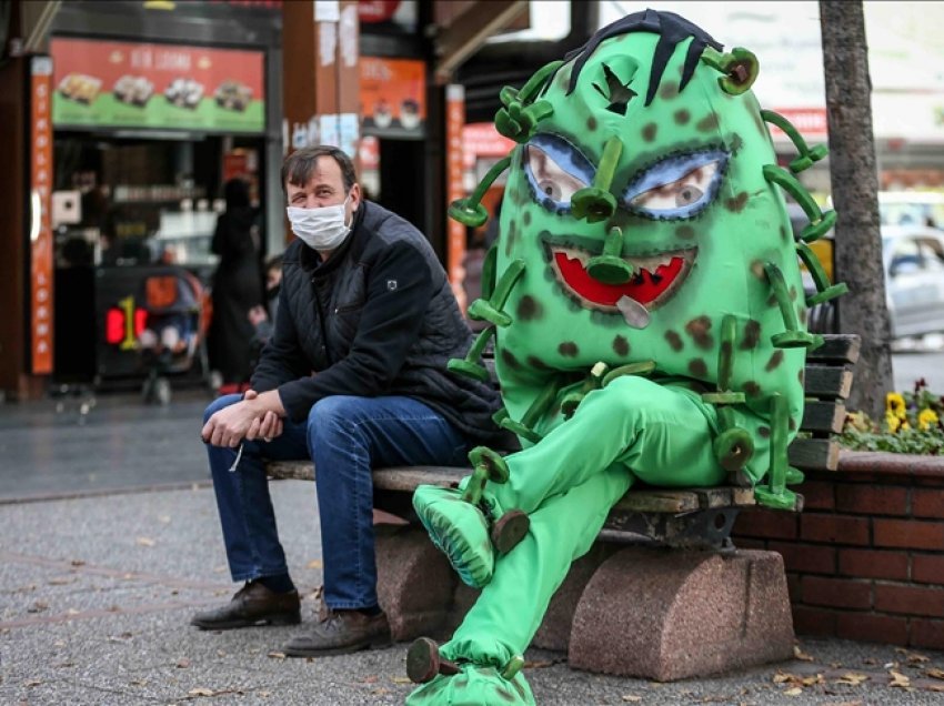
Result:
<svg viewBox="0 0 944 706"><path fill-rule="evenodd" d="M836 470L834 435L845 420L858 351L858 336L826 335L807 353L807 402L791 465ZM271 462L268 472L314 477L310 461ZM455 486L470 472L373 473L375 507L405 521L380 531L376 549L381 605L396 639L448 634L474 601L475 592L458 583L418 526L411 504L418 485ZM611 511L597 545L574 563L533 644L566 650L572 666L660 680L790 658L783 561L773 552L735 551L730 538L737 514L755 505L751 487L631 490Z"/></svg>

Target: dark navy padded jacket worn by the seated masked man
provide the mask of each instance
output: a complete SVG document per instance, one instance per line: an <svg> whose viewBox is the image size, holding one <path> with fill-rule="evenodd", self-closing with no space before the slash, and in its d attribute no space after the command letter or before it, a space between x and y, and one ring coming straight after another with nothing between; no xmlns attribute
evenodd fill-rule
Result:
<svg viewBox="0 0 944 706"><path fill-rule="evenodd" d="M470 442L501 437L491 421L498 394L446 371L472 334L432 248L409 222L364 202L327 262L301 241L289 245L281 286L252 389L278 387L291 420L330 395L403 395Z"/></svg>

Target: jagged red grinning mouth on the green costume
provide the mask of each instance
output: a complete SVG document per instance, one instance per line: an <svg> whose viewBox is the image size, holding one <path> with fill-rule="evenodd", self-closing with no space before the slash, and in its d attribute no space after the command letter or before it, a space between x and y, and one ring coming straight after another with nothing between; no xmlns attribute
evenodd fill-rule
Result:
<svg viewBox="0 0 944 706"><path fill-rule="evenodd" d="M626 258L636 275L625 284L604 284L586 271L590 255L583 250L552 248L560 280L578 296L599 307L614 309L624 296L653 309L664 302L685 280L695 250L654 258Z"/></svg>

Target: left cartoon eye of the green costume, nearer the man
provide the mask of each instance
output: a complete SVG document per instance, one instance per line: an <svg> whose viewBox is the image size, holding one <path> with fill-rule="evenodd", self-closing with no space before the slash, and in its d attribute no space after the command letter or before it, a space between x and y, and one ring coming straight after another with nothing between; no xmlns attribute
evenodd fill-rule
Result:
<svg viewBox="0 0 944 706"><path fill-rule="evenodd" d="M525 149L528 180L545 208L569 209L571 196L593 181L593 167L561 138L535 135Z"/></svg>

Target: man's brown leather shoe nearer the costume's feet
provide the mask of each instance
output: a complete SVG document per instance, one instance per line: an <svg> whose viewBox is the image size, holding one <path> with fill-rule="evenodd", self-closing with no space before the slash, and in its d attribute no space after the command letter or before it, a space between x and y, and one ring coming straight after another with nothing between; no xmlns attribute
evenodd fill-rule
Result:
<svg viewBox="0 0 944 706"><path fill-rule="evenodd" d="M314 627L292 638L283 648L289 657L343 655L392 644L386 613L364 615L360 611L332 611L322 605Z"/></svg>

